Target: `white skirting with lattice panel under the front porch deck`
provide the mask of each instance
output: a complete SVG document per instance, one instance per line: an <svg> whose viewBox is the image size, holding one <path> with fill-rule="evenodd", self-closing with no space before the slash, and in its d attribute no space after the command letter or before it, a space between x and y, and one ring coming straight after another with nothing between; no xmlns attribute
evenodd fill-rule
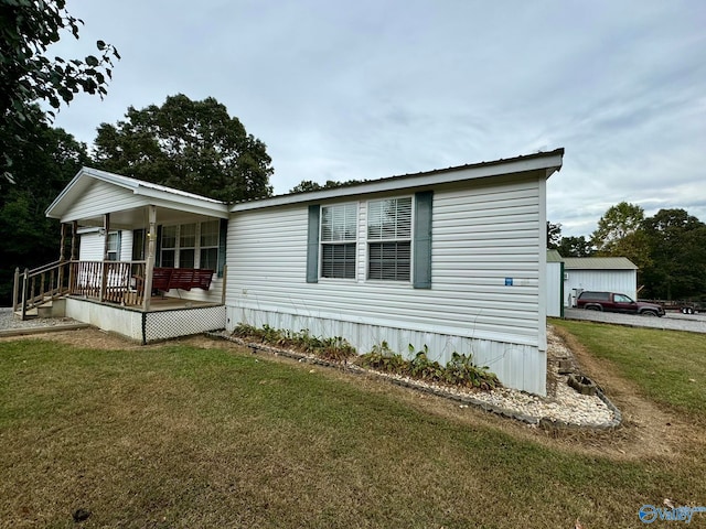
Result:
<svg viewBox="0 0 706 529"><path fill-rule="evenodd" d="M67 298L66 316L141 344L225 328L224 305L142 312L92 300Z"/></svg>

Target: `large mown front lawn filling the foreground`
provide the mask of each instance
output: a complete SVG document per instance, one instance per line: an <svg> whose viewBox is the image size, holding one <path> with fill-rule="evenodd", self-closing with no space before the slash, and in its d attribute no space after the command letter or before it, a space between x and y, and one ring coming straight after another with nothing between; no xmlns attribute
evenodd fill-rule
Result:
<svg viewBox="0 0 706 529"><path fill-rule="evenodd" d="M588 529L706 501L703 455L586 455L361 381L221 348L0 343L0 527L84 508L86 528Z"/></svg>

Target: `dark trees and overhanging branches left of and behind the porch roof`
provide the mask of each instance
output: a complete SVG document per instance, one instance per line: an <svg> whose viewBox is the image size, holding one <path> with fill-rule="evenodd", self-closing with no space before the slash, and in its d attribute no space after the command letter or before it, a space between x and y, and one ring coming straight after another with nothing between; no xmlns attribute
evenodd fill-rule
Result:
<svg viewBox="0 0 706 529"><path fill-rule="evenodd" d="M272 192L267 147L214 98L129 107L124 120L100 123L90 151L52 127L76 94L103 98L120 61L101 40L85 57L49 56L82 26L65 0L0 0L0 305L15 268L57 259L58 223L44 212L84 165L228 203Z"/></svg>

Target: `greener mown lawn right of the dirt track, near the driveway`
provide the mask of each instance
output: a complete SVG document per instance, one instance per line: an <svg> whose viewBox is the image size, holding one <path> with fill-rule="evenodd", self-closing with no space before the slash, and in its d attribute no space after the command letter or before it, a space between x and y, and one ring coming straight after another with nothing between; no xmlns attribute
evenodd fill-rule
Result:
<svg viewBox="0 0 706 529"><path fill-rule="evenodd" d="M651 400L706 418L706 336L577 321L553 321L591 354L610 360L620 376Z"/></svg>

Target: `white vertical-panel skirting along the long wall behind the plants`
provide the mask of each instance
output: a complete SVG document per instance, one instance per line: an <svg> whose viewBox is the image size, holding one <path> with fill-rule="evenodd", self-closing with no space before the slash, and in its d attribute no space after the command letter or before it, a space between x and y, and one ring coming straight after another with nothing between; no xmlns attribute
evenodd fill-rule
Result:
<svg viewBox="0 0 706 529"><path fill-rule="evenodd" d="M456 335L449 332L415 331L311 315L227 306L226 331L232 332L239 323L256 327L269 325L272 328L293 332L308 330L311 335L319 337L340 336L353 345L359 354L367 353L373 346L383 342L386 342L395 353L408 358L418 350L422 350L426 345L429 358L441 364L446 364L453 352L466 355L472 353L475 365L488 366L491 371L498 375L504 386L541 396L546 395L546 350L533 345L461 336L460 333ZM414 347L413 352L409 350L409 345Z"/></svg>

